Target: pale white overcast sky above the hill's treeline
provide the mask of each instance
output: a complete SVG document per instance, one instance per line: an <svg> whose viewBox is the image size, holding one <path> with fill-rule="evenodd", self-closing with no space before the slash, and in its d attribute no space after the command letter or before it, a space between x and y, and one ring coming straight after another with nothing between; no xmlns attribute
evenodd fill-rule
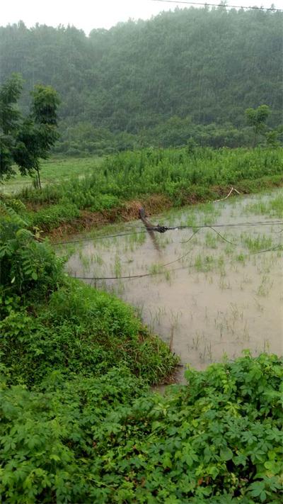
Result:
<svg viewBox="0 0 283 504"><path fill-rule="evenodd" d="M207 0L214 3L214 0ZM215 1L216 4L220 0ZM227 0L227 4L240 6L270 7L272 1ZM283 0L275 0L275 7L283 9ZM110 28L119 21L148 19L161 11L183 7L180 2L168 4L154 0L8 0L1 5L0 25L18 23L22 20L26 26L35 23L48 26L68 24L81 28L88 33L93 28Z"/></svg>

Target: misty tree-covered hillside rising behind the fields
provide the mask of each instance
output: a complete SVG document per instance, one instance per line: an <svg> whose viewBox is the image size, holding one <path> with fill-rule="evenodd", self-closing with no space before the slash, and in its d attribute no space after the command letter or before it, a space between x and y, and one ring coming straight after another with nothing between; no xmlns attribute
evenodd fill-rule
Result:
<svg viewBox="0 0 283 504"><path fill-rule="evenodd" d="M246 108L265 103L270 127L281 121L282 20L279 12L176 9L89 37L20 22L0 28L0 79L21 72L25 104L37 82L59 91L62 150L182 145L190 136L205 145L221 130L215 146L244 145Z"/></svg>

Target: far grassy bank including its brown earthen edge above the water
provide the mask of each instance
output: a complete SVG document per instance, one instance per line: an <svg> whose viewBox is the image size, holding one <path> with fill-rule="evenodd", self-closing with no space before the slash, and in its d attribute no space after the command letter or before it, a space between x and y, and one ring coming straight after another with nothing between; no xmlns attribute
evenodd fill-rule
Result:
<svg viewBox="0 0 283 504"><path fill-rule="evenodd" d="M87 166L76 163L81 177L76 167L76 176L62 183L58 165L56 184L21 191L30 220L45 232L61 226L61 233L71 233L129 220L137 217L139 203L156 213L226 196L231 186L250 193L283 183L282 149L142 150L122 152L100 164L94 160L93 166L90 159Z"/></svg>

